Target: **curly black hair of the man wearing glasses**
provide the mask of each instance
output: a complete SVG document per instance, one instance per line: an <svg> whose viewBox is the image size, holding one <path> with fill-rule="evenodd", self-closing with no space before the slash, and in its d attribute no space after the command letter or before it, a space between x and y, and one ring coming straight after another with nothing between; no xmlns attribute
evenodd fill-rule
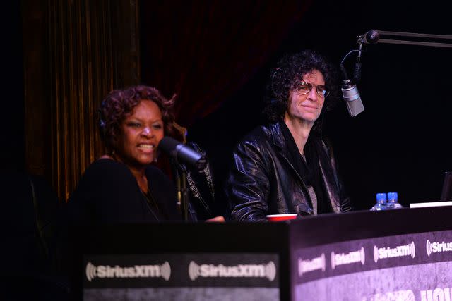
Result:
<svg viewBox="0 0 452 301"><path fill-rule="evenodd" d="M329 63L319 52L304 50L284 56L273 69L268 85L269 97L263 109L268 121L278 122L283 120L290 92L296 90L303 75L313 69L322 73L325 79L325 87L330 91L323 104L322 114L325 110L333 109L339 99L338 72L333 64ZM319 120L321 120L320 117ZM316 128L316 125L314 125L314 128Z"/></svg>

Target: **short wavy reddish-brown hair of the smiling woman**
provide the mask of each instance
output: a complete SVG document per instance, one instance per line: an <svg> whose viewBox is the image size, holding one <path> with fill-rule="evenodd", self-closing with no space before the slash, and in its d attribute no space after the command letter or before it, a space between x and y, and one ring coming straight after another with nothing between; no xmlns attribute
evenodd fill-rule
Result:
<svg viewBox="0 0 452 301"><path fill-rule="evenodd" d="M103 99L99 108L100 135L109 151L115 148L121 123L131 115L133 108L145 99L155 102L159 107L162 113L165 135L178 135L176 128L174 128L174 116L171 111L176 99L175 94L171 99L167 99L163 97L159 90L145 85L128 87L124 90L113 90Z"/></svg>

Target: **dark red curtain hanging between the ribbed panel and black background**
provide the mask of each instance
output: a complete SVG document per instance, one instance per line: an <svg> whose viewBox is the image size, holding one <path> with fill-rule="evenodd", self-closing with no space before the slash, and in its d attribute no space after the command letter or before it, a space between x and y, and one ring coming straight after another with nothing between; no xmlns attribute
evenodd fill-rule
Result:
<svg viewBox="0 0 452 301"><path fill-rule="evenodd" d="M143 83L167 97L185 127L258 71L307 11L307 1L141 1Z"/></svg>

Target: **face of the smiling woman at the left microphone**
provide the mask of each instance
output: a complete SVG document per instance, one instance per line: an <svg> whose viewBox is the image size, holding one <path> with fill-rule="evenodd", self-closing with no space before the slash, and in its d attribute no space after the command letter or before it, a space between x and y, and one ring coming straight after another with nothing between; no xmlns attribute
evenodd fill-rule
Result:
<svg viewBox="0 0 452 301"><path fill-rule="evenodd" d="M156 158L163 135L162 112L152 100L142 100L121 124L115 156L127 166L142 168Z"/></svg>

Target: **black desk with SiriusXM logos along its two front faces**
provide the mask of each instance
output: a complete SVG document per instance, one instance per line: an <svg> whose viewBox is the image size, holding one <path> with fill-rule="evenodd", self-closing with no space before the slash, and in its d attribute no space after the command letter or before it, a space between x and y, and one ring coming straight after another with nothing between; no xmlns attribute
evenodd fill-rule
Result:
<svg viewBox="0 0 452 301"><path fill-rule="evenodd" d="M78 229L84 300L452 300L452 207Z"/></svg>

